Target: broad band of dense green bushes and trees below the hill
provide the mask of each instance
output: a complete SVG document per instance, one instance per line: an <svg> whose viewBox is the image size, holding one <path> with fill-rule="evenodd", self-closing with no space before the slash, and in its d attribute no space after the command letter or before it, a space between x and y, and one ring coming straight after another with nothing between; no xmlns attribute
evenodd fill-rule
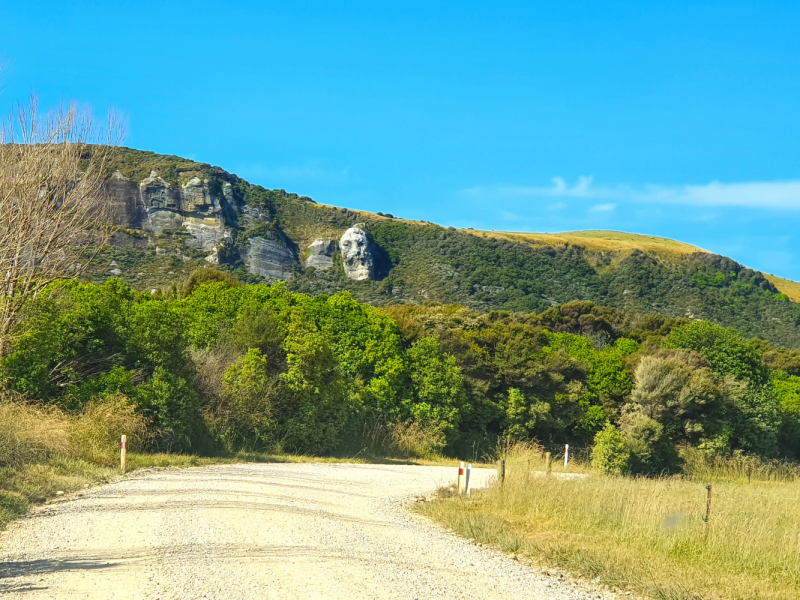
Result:
<svg viewBox="0 0 800 600"><path fill-rule="evenodd" d="M166 450L479 457L536 440L594 443L599 468L639 473L681 469L683 447L800 453L800 377L763 358L793 357L708 322L586 302L383 310L209 271L190 283L50 286L0 360L6 385L42 410L124 404Z"/></svg>

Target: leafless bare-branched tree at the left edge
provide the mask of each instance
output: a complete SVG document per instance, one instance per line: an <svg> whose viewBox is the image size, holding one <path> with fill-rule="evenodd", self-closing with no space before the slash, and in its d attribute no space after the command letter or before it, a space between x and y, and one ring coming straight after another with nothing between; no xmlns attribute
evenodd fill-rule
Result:
<svg viewBox="0 0 800 600"><path fill-rule="evenodd" d="M40 116L36 101L0 127L0 356L27 302L79 276L111 235L103 182L121 137L74 105Z"/></svg>

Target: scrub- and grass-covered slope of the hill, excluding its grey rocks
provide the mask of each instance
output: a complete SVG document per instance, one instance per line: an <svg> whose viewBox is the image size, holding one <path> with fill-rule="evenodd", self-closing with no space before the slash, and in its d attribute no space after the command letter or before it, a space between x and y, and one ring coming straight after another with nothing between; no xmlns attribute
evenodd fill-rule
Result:
<svg viewBox="0 0 800 600"><path fill-rule="evenodd" d="M267 190L224 171L178 157L123 150L120 170L146 176L158 170L172 182L202 173L212 185L233 186L234 204L259 208L302 252L316 238L338 239L354 223L365 223L380 248L379 278L351 281L340 257L328 271L298 265L293 291L308 294L350 291L375 305L404 302L461 304L488 312L543 311L571 300L591 300L626 312L709 319L737 327L747 336L800 347L800 285L748 269L735 261L674 240L609 231L561 234L456 230L432 223L317 204L310 198ZM240 239L247 237L241 227ZM158 255L144 248L110 249L91 278L113 268L137 289L185 279L203 257L184 250L180 232L165 232ZM256 281L234 252L225 268Z"/></svg>

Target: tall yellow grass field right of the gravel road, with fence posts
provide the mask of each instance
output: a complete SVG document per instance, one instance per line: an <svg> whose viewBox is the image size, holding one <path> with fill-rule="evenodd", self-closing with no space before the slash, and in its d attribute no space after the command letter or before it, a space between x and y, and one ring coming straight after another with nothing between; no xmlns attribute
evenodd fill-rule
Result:
<svg viewBox="0 0 800 600"><path fill-rule="evenodd" d="M659 600L800 597L799 483L720 476L706 525L698 481L547 477L527 469L534 458L536 449L512 448L503 486L416 509L481 543Z"/></svg>

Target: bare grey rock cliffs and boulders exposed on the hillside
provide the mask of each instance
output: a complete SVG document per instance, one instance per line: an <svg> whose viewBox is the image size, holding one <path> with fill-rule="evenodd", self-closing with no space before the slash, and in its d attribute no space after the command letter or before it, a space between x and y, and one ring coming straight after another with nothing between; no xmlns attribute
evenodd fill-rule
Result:
<svg viewBox="0 0 800 600"><path fill-rule="evenodd" d="M201 171L188 173L185 183L170 184L157 171L140 182L120 172L106 182L106 192L113 207L114 222L127 231L115 234L112 243L118 247L152 246L156 237L168 230L182 229L190 236L172 237L183 240L185 248L202 251L211 264L235 263L241 260L250 273L268 280L291 279L299 264L296 244L273 222L264 206L243 205L234 199L229 182L211 181ZM142 234L136 234L140 230ZM248 233L249 232L249 233ZM354 225L339 240L317 239L310 246L304 266L326 270L333 266L333 255L341 249L344 270L355 280L374 279L378 267L377 248L369 241L363 225ZM156 247L156 254L166 252ZM197 252L185 256L198 258Z"/></svg>

